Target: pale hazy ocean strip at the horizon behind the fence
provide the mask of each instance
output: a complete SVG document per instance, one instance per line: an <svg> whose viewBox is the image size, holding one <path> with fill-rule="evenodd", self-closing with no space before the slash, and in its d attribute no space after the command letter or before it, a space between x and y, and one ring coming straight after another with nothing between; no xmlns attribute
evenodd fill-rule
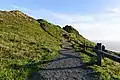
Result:
<svg viewBox="0 0 120 80"><path fill-rule="evenodd" d="M94 42L102 43L108 50L120 52L120 41L94 40Z"/></svg>

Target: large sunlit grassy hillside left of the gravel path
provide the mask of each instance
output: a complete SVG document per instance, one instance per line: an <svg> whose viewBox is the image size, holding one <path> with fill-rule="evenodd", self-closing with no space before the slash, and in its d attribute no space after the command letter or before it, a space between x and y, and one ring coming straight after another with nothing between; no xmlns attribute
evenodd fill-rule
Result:
<svg viewBox="0 0 120 80"><path fill-rule="evenodd" d="M48 31L54 35L57 30ZM37 66L23 66L53 58L61 41L56 39L58 35L52 35L20 11L0 11L0 80L24 80Z"/></svg>

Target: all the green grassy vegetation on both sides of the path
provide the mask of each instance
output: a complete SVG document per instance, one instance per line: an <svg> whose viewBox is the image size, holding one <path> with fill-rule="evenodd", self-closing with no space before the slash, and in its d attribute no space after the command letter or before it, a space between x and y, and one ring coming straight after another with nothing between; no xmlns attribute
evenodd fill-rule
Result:
<svg viewBox="0 0 120 80"><path fill-rule="evenodd" d="M58 55L62 47L62 36L65 34L76 51L83 50L79 44L93 47L96 45L72 26L67 25L62 29L18 10L0 11L0 80L26 79L39 69L44 61ZM90 49L86 52L95 54ZM95 57L89 57L84 52L80 52L80 55L84 62L95 61ZM101 79L120 80L119 66L120 63L104 58L102 67L90 67L96 70Z"/></svg>

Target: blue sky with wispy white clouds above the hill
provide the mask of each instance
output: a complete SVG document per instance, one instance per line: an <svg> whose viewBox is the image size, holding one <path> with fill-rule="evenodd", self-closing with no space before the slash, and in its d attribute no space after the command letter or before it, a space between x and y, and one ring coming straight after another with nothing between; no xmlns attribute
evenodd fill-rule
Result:
<svg viewBox="0 0 120 80"><path fill-rule="evenodd" d="M90 40L120 41L120 0L1 0L0 10L72 25Z"/></svg>

